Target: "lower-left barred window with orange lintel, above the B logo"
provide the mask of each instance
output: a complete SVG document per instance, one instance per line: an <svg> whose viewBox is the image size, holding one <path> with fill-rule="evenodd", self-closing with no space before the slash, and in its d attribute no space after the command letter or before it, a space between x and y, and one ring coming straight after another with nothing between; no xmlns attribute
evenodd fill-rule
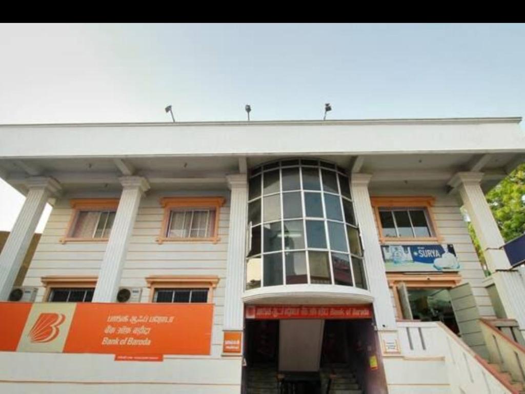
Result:
<svg viewBox="0 0 525 394"><path fill-rule="evenodd" d="M59 303L91 302L97 285L95 276L45 276L44 300Z"/></svg>

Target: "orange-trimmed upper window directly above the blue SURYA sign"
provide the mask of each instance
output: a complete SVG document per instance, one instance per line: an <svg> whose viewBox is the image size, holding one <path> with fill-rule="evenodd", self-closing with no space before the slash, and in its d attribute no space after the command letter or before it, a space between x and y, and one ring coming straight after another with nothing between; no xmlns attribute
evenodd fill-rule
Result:
<svg viewBox="0 0 525 394"><path fill-rule="evenodd" d="M433 197L373 197L371 201L382 243L439 242Z"/></svg>

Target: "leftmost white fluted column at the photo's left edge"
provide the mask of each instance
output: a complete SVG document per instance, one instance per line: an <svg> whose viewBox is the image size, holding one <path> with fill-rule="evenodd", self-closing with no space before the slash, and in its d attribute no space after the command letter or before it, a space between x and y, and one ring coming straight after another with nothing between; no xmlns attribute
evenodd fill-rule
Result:
<svg viewBox="0 0 525 394"><path fill-rule="evenodd" d="M44 177L30 178L27 186L26 201L0 254L0 301L9 297L47 200L60 190L56 180Z"/></svg>

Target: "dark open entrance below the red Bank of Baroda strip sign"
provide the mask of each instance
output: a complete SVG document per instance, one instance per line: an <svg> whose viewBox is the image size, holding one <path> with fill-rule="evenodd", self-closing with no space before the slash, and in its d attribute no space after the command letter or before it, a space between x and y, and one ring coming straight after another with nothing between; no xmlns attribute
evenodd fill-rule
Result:
<svg viewBox="0 0 525 394"><path fill-rule="evenodd" d="M386 392L371 319L246 320L244 393Z"/></svg>

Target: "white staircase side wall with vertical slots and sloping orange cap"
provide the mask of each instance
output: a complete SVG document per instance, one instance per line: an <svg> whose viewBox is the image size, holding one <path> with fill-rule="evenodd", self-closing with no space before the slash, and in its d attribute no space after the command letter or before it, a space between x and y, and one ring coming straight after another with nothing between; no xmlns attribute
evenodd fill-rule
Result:
<svg viewBox="0 0 525 394"><path fill-rule="evenodd" d="M451 392L457 394L518 394L487 361L439 322L398 322L405 357L443 357Z"/></svg>

